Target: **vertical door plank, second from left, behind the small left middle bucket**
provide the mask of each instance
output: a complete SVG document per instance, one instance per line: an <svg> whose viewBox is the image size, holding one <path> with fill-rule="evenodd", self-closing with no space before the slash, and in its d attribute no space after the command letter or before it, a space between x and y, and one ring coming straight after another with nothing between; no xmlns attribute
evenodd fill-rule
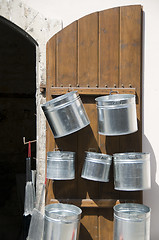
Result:
<svg viewBox="0 0 159 240"><path fill-rule="evenodd" d="M59 86L76 86L77 81L77 22L56 34L56 83ZM54 88L51 88L54 89ZM77 153L77 133L55 139L61 151ZM75 159L77 172L78 156ZM74 180L54 181L55 198L75 198L77 195L77 174Z"/></svg>

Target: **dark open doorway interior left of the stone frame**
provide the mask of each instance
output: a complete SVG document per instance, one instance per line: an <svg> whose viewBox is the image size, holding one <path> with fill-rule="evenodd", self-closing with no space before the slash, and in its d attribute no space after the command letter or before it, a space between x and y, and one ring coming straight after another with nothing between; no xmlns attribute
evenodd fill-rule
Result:
<svg viewBox="0 0 159 240"><path fill-rule="evenodd" d="M36 42L0 17L0 239L22 239L26 140L36 138ZM32 169L36 145L32 144Z"/></svg>

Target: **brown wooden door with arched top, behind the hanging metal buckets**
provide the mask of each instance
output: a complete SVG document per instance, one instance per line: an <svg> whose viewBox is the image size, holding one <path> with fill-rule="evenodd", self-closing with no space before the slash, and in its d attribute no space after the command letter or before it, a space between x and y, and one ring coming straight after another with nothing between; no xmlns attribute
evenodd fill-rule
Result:
<svg viewBox="0 0 159 240"><path fill-rule="evenodd" d="M90 119L86 128L54 139L47 125L46 151L76 152L76 178L48 180L46 204L67 202L82 208L80 240L113 239L113 206L119 202L142 202L142 192L114 190L113 167L109 183L81 178L85 151L142 151L142 7L117 7L96 12L73 22L47 43L47 101L77 90ZM95 97L132 93L137 97L139 130L125 136L98 134Z"/></svg>

